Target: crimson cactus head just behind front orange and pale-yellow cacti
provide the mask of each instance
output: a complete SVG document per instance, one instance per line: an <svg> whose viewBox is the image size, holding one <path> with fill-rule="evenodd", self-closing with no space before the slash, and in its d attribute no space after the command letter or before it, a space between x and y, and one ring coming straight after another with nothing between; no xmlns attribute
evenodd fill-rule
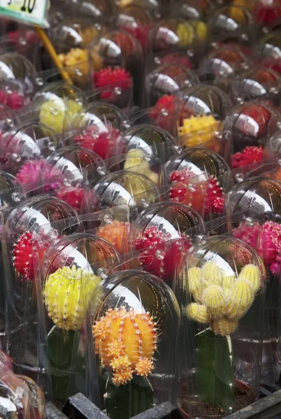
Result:
<svg viewBox="0 0 281 419"><path fill-rule="evenodd" d="M182 265L192 242L185 235L171 240L170 233L151 226L143 231L135 245L136 250L141 250L139 263L145 270L165 281L173 281L175 270Z"/></svg>

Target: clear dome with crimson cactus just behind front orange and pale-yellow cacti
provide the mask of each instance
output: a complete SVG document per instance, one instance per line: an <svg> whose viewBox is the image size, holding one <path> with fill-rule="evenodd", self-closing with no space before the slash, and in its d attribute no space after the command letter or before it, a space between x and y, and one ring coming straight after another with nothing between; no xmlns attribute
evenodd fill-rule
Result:
<svg viewBox="0 0 281 419"><path fill-rule="evenodd" d="M177 286L176 275L187 253L192 251L196 237L205 235L201 216L187 205L164 202L143 210L135 225L138 264L171 288Z"/></svg>

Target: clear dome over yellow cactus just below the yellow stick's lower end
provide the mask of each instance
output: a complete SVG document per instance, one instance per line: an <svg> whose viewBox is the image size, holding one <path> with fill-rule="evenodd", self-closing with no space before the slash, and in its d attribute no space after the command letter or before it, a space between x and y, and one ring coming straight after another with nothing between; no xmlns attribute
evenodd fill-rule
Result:
<svg viewBox="0 0 281 419"><path fill-rule="evenodd" d="M85 95L78 87L53 82L36 93L32 106L41 124L63 133L72 128L73 117L85 103Z"/></svg>

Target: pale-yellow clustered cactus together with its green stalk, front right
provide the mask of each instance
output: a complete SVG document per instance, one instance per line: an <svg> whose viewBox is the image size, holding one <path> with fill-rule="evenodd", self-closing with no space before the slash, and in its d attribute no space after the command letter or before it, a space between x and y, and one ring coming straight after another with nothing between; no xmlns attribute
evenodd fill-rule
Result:
<svg viewBox="0 0 281 419"><path fill-rule="evenodd" d="M187 316L209 328L197 333L196 375L203 402L229 414L233 409L233 353L231 335L240 318L250 309L261 288L261 271L248 264L239 274L226 276L209 260L203 267L188 271L189 294L194 302L187 306Z"/></svg>

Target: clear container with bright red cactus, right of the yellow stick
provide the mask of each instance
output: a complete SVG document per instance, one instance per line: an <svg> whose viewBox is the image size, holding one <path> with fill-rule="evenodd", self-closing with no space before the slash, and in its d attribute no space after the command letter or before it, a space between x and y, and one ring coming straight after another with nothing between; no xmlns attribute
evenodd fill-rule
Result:
<svg viewBox="0 0 281 419"><path fill-rule="evenodd" d="M143 50L134 36L122 30L98 36L89 46L89 59L94 69L93 86L98 89L115 89L115 94L120 96L121 102L128 100L127 96L134 88L134 100L138 103L141 94L140 69L143 68ZM110 91L102 91L100 96L101 100L112 100Z"/></svg>

